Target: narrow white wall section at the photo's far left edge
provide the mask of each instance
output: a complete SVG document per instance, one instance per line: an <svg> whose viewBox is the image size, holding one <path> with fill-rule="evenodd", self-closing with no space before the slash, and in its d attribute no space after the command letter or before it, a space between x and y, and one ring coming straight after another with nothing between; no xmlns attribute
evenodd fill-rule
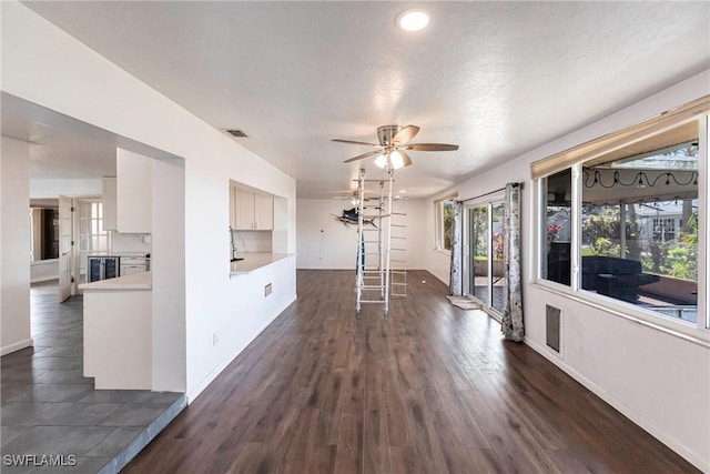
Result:
<svg viewBox="0 0 710 474"><path fill-rule="evenodd" d="M0 354L32 345L30 334L30 147L0 144Z"/></svg>

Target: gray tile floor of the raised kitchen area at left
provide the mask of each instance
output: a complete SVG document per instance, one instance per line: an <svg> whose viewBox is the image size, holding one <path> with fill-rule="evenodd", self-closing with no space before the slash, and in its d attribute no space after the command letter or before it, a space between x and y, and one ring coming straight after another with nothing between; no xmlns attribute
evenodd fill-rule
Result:
<svg viewBox="0 0 710 474"><path fill-rule="evenodd" d="M33 285L30 297L34 347L0 357L0 471L120 471L184 409L185 396L95 391L83 376L81 296L59 304L50 282ZM49 465L57 463L64 466Z"/></svg>

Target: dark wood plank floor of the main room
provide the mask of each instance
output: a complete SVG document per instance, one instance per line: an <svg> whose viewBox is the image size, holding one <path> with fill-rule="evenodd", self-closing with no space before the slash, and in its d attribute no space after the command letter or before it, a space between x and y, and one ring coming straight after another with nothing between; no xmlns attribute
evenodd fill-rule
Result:
<svg viewBox="0 0 710 474"><path fill-rule="evenodd" d="M696 472L429 273L409 272L388 319L355 317L354 272L297 280L298 301L126 472Z"/></svg>

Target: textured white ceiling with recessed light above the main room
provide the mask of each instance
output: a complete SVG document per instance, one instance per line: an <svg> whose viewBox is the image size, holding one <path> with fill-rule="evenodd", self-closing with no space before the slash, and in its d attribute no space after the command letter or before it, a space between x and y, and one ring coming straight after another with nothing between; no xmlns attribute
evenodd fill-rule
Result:
<svg viewBox="0 0 710 474"><path fill-rule="evenodd" d="M414 123L397 188L429 195L710 64L708 2L26 2L297 180L351 188L382 124ZM361 162L363 163L363 162ZM368 172L376 170L366 160ZM239 178L239 177L235 177Z"/></svg>

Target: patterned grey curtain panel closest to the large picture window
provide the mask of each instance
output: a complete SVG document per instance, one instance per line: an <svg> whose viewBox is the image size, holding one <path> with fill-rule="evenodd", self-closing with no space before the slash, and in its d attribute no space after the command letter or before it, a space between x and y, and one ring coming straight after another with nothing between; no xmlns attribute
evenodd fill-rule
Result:
<svg viewBox="0 0 710 474"><path fill-rule="evenodd" d="M507 340L520 342L525 336L523 325L523 268L520 264L520 184L508 183L505 189L505 253L503 258L504 286L503 323ZM452 255L453 256L453 255Z"/></svg>

